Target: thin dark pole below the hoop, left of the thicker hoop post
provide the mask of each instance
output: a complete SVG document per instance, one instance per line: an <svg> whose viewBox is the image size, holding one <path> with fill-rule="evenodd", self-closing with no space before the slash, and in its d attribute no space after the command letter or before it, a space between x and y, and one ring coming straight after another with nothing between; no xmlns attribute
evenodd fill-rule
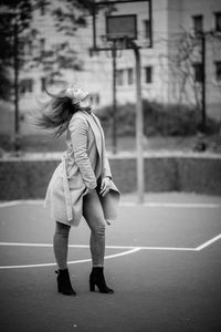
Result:
<svg viewBox="0 0 221 332"><path fill-rule="evenodd" d="M116 98L116 45L114 43L112 51L113 59L113 153L117 153L117 98Z"/></svg>

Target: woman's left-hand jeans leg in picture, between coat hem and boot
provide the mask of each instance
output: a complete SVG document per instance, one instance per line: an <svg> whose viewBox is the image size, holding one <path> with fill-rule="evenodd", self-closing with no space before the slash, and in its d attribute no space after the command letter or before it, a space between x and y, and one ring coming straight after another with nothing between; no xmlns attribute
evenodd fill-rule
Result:
<svg viewBox="0 0 221 332"><path fill-rule="evenodd" d="M56 221L53 238L54 256L60 270L67 269L67 248L70 226Z"/></svg>

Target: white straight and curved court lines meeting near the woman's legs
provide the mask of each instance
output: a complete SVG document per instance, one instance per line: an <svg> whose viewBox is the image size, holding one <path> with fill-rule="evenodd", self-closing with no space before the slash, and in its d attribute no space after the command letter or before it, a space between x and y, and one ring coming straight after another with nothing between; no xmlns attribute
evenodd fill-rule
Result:
<svg viewBox="0 0 221 332"><path fill-rule="evenodd" d="M131 247L131 246L106 246L108 249L127 249L126 251L108 255L105 256L105 259L116 258L120 256L126 256L130 253L135 253L140 250L173 250L173 251L201 251L204 248L208 248L215 241L221 239L221 234L213 237L212 239L206 241L204 243L198 246L197 248L180 248L180 247ZM13 247L52 247L49 243L21 243L21 242L0 242L0 246L13 246ZM70 245L70 248L90 248L87 245ZM82 262L88 262L91 259L81 259L81 260L73 260L69 261L69 264L76 264ZM41 267L52 267L56 266L55 262L53 263L38 263L38 264L22 264L22 266L0 266L0 269L24 269L24 268L41 268Z"/></svg>

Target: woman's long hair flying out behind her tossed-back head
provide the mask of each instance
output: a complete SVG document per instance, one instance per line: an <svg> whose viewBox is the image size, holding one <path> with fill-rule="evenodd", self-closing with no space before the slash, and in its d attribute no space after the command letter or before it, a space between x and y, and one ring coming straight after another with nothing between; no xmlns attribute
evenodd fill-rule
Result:
<svg viewBox="0 0 221 332"><path fill-rule="evenodd" d="M80 110L78 103L65 95L66 90L52 94L45 89L50 101L39 101L39 107L33 115L34 124L43 129L53 131L54 137L60 137L66 129L72 115Z"/></svg>

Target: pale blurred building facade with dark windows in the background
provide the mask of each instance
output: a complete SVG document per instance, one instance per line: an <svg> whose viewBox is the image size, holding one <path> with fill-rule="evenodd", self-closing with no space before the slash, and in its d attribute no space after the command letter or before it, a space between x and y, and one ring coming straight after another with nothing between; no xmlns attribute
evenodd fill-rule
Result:
<svg viewBox="0 0 221 332"><path fill-rule="evenodd" d="M131 4L134 6L134 4ZM136 7L144 3L136 3ZM133 10L133 7L131 7ZM92 17L87 27L73 39L83 63L82 71L64 70L53 91L75 83L88 90L95 107L113 103L113 58L109 52L91 56ZM138 33L149 37L149 14L137 18ZM39 8L34 24L41 30L40 48L49 49L60 38L49 12ZM105 33L105 32L104 32ZM45 35L45 38L44 38ZM49 38L50 37L50 38ZM202 37L204 58L202 58ZM62 39L61 39L62 42ZM32 52L27 45L27 52ZM152 48L140 50L141 94L144 98L164 104L201 104L202 65L207 113L221 120L221 1L220 0L152 0ZM204 61L204 62L203 62ZM116 58L117 103L136 102L135 55L133 50L118 50ZM41 69L25 71L21 76L22 112L29 112L35 97L42 97L46 76Z"/></svg>

